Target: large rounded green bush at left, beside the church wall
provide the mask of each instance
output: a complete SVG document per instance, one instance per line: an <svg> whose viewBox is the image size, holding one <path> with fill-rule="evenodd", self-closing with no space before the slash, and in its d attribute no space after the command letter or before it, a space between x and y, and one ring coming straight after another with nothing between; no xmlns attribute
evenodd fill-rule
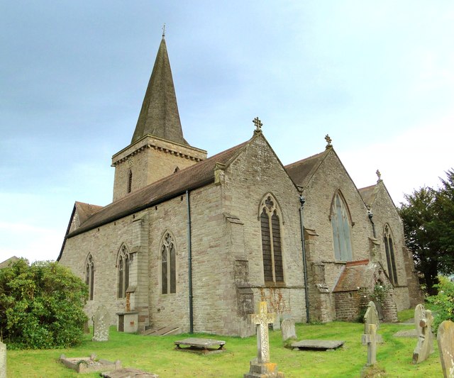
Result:
<svg viewBox="0 0 454 378"><path fill-rule="evenodd" d="M87 285L57 262L21 259L0 269L0 332L9 349L82 342Z"/></svg>

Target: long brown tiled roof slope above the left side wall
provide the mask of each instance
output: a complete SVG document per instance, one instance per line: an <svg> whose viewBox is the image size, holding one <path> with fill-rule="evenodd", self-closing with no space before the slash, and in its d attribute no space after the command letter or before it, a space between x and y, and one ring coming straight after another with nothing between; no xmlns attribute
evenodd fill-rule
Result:
<svg viewBox="0 0 454 378"><path fill-rule="evenodd" d="M155 206L162 201L184 194L187 190L194 190L214 182L216 163L227 166L251 140L220 152L206 160L202 160L191 167L175 172L147 187L134 191L118 201L104 206L87 218L84 223L81 223L79 228L68 233L67 238L123 218L123 216L147 209L150 206Z"/></svg>

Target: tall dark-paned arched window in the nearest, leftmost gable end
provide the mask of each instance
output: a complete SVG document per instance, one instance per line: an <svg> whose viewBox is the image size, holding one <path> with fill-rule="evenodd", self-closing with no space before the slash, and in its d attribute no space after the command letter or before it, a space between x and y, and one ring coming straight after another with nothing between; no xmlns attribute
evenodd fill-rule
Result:
<svg viewBox="0 0 454 378"><path fill-rule="evenodd" d="M281 216L277 201L271 194L267 194L260 204L260 228L265 282L284 282Z"/></svg>

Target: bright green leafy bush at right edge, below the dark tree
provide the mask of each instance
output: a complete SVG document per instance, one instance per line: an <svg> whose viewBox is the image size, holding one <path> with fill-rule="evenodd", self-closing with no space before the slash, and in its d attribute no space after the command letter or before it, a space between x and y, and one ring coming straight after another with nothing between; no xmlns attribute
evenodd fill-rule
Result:
<svg viewBox="0 0 454 378"><path fill-rule="evenodd" d="M428 303L435 306L434 330L438 330L442 321L454 321L454 282L450 282L447 277L438 276L436 287L438 294L427 298Z"/></svg>

